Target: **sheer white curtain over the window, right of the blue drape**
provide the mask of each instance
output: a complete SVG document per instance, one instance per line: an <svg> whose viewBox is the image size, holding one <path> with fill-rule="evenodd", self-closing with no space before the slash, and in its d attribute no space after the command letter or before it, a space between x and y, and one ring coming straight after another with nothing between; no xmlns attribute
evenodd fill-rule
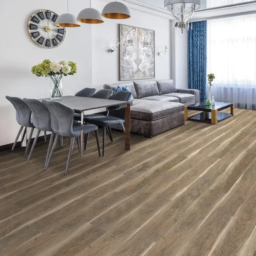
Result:
<svg viewBox="0 0 256 256"><path fill-rule="evenodd" d="M212 96L256 109L256 14L207 21L207 73Z"/></svg>

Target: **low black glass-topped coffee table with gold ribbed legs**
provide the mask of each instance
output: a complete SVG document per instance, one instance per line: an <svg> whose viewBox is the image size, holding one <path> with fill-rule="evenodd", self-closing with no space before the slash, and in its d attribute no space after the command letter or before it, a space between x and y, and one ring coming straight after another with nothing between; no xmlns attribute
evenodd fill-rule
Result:
<svg viewBox="0 0 256 256"><path fill-rule="evenodd" d="M230 113L218 112L230 108ZM217 125L231 116L234 116L235 104L230 102L215 102L215 105L206 105L206 102L200 102L190 106L185 106L185 120L191 120L196 122L207 122L213 125ZM188 117L188 110L203 111L201 113Z"/></svg>

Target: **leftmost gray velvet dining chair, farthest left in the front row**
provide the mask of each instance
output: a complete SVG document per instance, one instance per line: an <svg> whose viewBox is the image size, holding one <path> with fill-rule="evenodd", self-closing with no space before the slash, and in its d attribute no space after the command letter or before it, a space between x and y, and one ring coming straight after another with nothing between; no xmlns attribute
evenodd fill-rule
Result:
<svg viewBox="0 0 256 256"><path fill-rule="evenodd" d="M15 142L12 145L12 150L14 150L14 148L16 146L17 140L20 137L23 127L25 127L25 129L24 129L23 136L21 139L21 144L23 143L23 140L24 140L24 137L26 134L26 128L31 128L30 134L29 134L29 139L27 141L26 150L25 150L25 157L26 157L26 154L29 150L29 145L31 142L32 134L35 129L35 126L31 122L31 110L30 110L29 106L23 101L23 99L20 99L18 97L11 97L11 96L6 96L6 99L9 100L9 102L11 102L12 105L14 106L14 108L16 110L16 121L20 125L20 130L18 131L18 134L15 138Z"/></svg>

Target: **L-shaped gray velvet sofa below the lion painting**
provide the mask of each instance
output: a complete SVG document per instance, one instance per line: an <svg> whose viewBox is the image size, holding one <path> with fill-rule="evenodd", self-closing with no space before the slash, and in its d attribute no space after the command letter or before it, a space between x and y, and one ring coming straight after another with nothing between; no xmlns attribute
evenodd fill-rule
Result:
<svg viewBox="0 0 256 256"><path fill-rule="evenodd" d="M200 102L200 91L176 89L173 80L130 81L105 84L104 89L129 87L134 97L131 106L131 132L151 138L184 124L185 105Z"/></svg>

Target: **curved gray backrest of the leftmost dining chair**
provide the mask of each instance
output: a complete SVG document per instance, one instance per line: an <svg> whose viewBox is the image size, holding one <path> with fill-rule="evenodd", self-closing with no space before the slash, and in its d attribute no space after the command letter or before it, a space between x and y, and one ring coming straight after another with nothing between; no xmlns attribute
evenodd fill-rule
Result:
<svg viewBox="0 0 256 256"><path fill-rule="evenodd" d="M32 127L31 123L31 109L28 105L18 97L6 96L6 99L12 103L16 110L16 120L21 126Z"/></svg>

